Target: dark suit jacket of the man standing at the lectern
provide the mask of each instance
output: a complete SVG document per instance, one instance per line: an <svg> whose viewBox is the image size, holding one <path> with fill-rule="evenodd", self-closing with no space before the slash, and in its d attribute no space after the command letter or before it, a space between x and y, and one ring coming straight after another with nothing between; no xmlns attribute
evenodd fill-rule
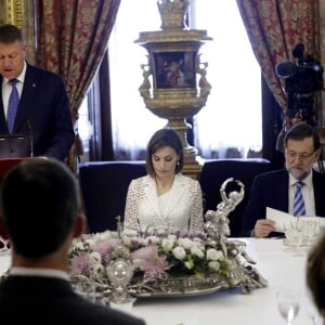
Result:
<svg viewBox="0 0 325 325"><path fill-rule="evenodd" d="M2 76L0 76L2 84ZM9 135L0 96L0 139ZM65 84L61 76L27 64L13 134L0 141L0 158L49 156L63 160L75 140Z"/></svg>

